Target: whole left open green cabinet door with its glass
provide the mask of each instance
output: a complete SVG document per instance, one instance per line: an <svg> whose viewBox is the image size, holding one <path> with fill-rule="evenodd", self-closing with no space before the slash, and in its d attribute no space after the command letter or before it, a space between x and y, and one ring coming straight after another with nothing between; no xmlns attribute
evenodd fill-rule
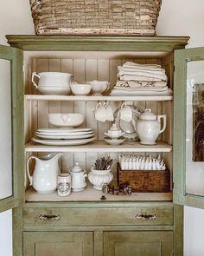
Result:
<svg viewBox="0 0 204 256"><path fill-rule="evenodd" d="M18 206L20 199L21 91L22 51L0 46L0 212Z"/></svg>

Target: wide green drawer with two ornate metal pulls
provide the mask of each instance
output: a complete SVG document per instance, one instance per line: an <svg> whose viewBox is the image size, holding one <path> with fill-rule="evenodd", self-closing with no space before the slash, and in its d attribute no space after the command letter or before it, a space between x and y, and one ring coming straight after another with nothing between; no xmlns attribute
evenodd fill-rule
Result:
<svg viewBox="0 0 204 256"><path fill-rule="evenodd" d="M24 208L24 226L173 225L173 207Z"/></svg>

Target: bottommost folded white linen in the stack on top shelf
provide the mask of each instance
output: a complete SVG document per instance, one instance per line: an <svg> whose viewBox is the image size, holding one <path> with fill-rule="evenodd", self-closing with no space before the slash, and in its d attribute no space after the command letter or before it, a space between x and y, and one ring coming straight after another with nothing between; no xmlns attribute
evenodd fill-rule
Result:
<svg viewBox="0 0 204 256"><path fill-rule="evenodd" d="M112 96L159 96L159 95L173 95L171 89L167 89L164 91L155 91L155 90L121 90L121 89L112 89Z"/></svg>

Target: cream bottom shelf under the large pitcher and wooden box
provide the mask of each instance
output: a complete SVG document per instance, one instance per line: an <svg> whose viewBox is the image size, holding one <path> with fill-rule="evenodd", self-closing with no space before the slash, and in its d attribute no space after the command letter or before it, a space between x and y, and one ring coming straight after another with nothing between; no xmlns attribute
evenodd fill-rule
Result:
<svg viewBox="0 0 204 256"><path fill-rule="evenodd" d="M102 191L98 191L92 188L90 184L85 190L80 192L72 192L67 197L61 197L54 192L52 194L38 194L29 187L25 194L26 201L40 202L40 201L101 201L101 196L104 195ZM132 193L130 195L124 194L105 194L105 201L171 201L172 193Z"/></svg>

